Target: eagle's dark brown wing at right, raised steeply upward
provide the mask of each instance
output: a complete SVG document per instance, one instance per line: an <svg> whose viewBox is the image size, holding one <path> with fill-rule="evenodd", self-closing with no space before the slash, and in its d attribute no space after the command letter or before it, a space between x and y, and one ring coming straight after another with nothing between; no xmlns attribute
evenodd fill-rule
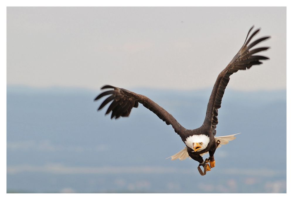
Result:
<svg viewBox="0 0 293 200"><path fill-rule="evenodd" d="M237 72L238 70L246 70L251 68L253 65L260 65L262 64L260 60L269 59L265 56L255 55L260 51L268 50L269 47L260 47L255 49L252 48L261 41L266 40L270 37L259 38L254 42L250 43L251 39L256 35L256 33L260 31L260 29L255 30L248 38L249 33L252 29L253 26L248 31L245 42L241 49L234 56L229 65L219 74L216 83L214 84L214 88L209 98L209 103L207 105L207 113L204 121L204 125L212 126L214 135L216 135L215 129L218 124L218 109L221 107L222 97L226 89L226 86L229 82L230 75Z"/></svg>

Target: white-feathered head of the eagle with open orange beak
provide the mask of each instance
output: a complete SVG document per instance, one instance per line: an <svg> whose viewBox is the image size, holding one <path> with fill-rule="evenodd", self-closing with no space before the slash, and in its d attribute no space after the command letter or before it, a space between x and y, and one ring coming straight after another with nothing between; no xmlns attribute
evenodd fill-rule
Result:
<svg viewBox="0 0 293 200"><path fill-rule="evenodd" d="M202 151L209 144L209 136L204 134L191 135L186 138L185 144L194 151Z"/></svg>

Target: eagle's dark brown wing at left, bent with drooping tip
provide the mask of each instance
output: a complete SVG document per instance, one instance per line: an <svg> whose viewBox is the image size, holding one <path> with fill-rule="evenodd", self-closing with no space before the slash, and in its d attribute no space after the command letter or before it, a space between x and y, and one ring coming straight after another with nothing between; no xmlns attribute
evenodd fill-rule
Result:
<svg viewBox="0 0 293 200"><path fill-rule="evenodd" d="M144 95L136 94L127 89L113 87L111 85L105 85L101 89L113 89L100 93L94 100L96 101L103 96L110 95L105 101L103 101L98 110L102 109L106 104L112 101L105 113L109 114L112 111L111 119L113 117L115 117L115 119L119 117L128 117L131 109L133 107L137 108L138 103L141 103L144 107L155 113L161 120L166 122L167 125L171 124L178 135L181 136L181 134L183 134L182 132L186 130L170 113Z"/></svg>

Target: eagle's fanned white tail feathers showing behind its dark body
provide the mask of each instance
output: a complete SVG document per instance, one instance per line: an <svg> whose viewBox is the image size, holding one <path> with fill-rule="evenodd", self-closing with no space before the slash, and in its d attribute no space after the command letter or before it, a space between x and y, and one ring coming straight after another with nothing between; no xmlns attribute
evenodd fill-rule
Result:
<svg viewBox="0 0 293 200"><path fill-rule="evenodd" d="M237 134L240 134L240 133L236 133L236 134L233 134L233 135L225 135L225 136L219 136L219 137L215 137L215 140L220 140L220 145L218 147L221 147L221 145L226 145L229 143L229 141L231 140L234 140L236 137L235 135ZM200 156L203 156L205 154L207 154L208 152L205 152L205 153L202 153L200 154ZM178 153L168 157L168 158L171 158L171 160L176 160L176 159L179 159L179 160L185 160L186 158L191 159L191 157L188 155L188 152L187 152L187 148L184 147L184 149L182 149L181 151L179 151ZM166 158L166 159L168 159Z"/></svg>

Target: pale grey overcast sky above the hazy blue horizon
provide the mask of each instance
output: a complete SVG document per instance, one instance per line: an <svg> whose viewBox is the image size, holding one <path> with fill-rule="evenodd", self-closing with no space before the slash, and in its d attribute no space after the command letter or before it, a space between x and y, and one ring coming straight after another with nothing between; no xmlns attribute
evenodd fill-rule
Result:
<svg viewBox="0 0 293 200"><path fill-rule="evenodd" d="M209 88L252 25L270 60L228 87L286 89L285 7L8 7L7 85Z"/></svg>

